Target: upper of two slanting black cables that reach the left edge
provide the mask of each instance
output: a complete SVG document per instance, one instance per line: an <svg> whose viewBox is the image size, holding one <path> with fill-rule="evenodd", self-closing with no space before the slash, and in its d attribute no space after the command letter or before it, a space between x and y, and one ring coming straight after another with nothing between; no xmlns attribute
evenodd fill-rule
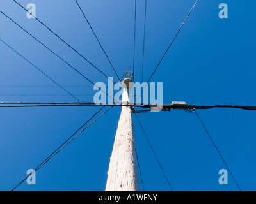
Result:
<svg viewBox="0 0 256 204"><path fill-rule="evenodd" d="M15 1L15 0L13 0ZM82 77L84 77L86 80L88 80L88 82L90 82L91 84L95 85L89 78L85 77L80 71L78 71L76 68L74 68L74 66L70 65L67 61L65 61L63 58L61 58L58 54L56 54L54 51L52 51L49 47L47 47L46 45L44 45L44 43L42 43L40 40L38 40L37 38L35 38L35 36L33 36L31 33L29 33L28 31L26 31L23 27L21 27L19 24L17 24L17 22L15 22L14 20L12 20L12 18L8 17L5 13L3 13L3 11L0 11L0 13L2 13L5 17L7 17L9 20L11 20L14 24L16 24L17 26L20 27L20 29L22 29L23 31L25 31L26 33L29 34L29 36L31 36L32 38L34 38L36 41L38 41L38 43L40 43L41 45L43 45L45 48L47 48L47 50L49 50L50 52L52 52L52 54L56 55L56 57L58 57L59 59L61 59L61 61L65 62L68 66L70 66L70 68L74 69L77 73L79 73L79 75L81 75ZM97 85L95 85L98 89L100 89L100 87L98 87ZM102 89L100 89L102 91ZM102 91L104 92L104 91ZM105 94L107 94L106 92L104 92ZM107 94L107 96L109 96ZM113 99L113 98L112 98ZM115 99L113 99L115 101Z"/></svg>

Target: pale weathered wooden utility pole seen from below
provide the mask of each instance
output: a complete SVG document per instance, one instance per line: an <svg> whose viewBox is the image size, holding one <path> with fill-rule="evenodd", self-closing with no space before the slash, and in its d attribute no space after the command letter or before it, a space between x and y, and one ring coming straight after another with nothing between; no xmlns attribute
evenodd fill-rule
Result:
<svg viewBox="0 0 256 204"><path fill-rule="evenodd" d="M128 91L125 88L122 103L129 103ZM122 106L109 163L106 191L140 191L130 106Z"/></svg>

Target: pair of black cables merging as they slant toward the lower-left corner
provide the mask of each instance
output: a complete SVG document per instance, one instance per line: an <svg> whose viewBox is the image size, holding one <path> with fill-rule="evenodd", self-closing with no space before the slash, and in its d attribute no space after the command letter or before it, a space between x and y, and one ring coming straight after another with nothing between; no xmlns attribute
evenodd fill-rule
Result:
<svg viewBox="0 0 256 204"><path fill-rule="evenodd" d="M81 135L81 133L83 133L83 131L87 128L89 128L96 120L98 120L100 117L102 117L102 115L104 115L109 109L111 109L113 106L111 106L110 108L108 108L104 113L102 113L99 117L97 117L97 119L93 120L93 122L91 122L88 126L86 126L84 129L82 129L80 131L80 133L78 133L74 138L72 138L72 140L70 140L69 142L67 142L72 136L74 136L81 128L83 128L85 126L85 124L87 124L102 108L100 108L100 110L95 113L93 115L93 117L91 117L89 120L87 120L83 126L81 126L81 128L79 128L72 136L70 136L70 138L68 138L68 140L66 140L65 142L67 142L65 145L61 145L60 147L58 147L57 150L54 151L54 153L51 154L51 156L47 157L47 159L45 159L45 161L43 163L41 163L32 173L34 173L35 171L39 170L42 166L44 166L44 164L46 164L52 157L54 157L56 154L58 154L58 152L60 152L63 148L65 148L70 142L72 142L74 139L77 138L77 136ZM30 173L30 175L32 174ZM20 186L20 184L22 184L22 182L24 182L24 180L28 179L28 177L30 176L28 175L25 179L23 179L17 186L15 186L11 191L15 190L18 186Z"/></svg>

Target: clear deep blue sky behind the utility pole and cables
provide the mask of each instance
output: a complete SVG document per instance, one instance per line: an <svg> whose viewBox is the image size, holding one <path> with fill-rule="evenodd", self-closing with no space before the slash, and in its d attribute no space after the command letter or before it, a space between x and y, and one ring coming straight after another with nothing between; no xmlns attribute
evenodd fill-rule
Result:
<svg viewBox="0 0 256 204"><path fill-rule="evenodd" d="M75 1L35 3L36 17L61 38L115 77ZM132 66L134 1L79 1L119 76ZM144 80L147 81L172 41L194 0L148 0ZM228 19L218 17L220 3ZM136 22L135 80L141 78L145 1L139 0ZM254 1L199 0L151 82L163 82L163 101L196 105L255 105ZM93 82L107 82L99 72L10 0L1 11L45 43ZM0 38L54 78L81 101L93 101L92 84L0 13ZM74 101L51 80L0 42L0 101ZM10 191L26 171L38 166L99 107L1 108L0 191ZM112 108L74 142L36 172L36 185L19 191L104 191L109 157L121 109ZM198 110L242 191L256 190L255 112ZM138 115L174 191L237 191L195 113L183 110ZM170 191L138 121L136 149L146 191ZM141 182L140 182L141 187ZM142 189L142 187L141 187Z"/></svg>

